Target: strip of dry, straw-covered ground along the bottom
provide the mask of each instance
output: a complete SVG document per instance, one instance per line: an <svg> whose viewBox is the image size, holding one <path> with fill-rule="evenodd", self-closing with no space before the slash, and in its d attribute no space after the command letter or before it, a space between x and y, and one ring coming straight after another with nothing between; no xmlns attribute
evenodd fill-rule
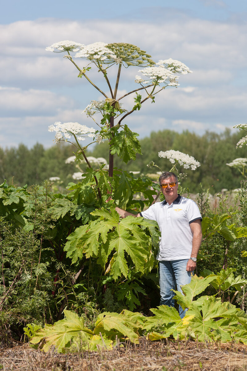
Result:
<svg viewBox="0 0 247 371"><path fill-rule="evenodd" d="M0 370L51 371L247 371L247 346L194 341L147 341L111 351L57 354L28 344L0 349Z"/></svg>

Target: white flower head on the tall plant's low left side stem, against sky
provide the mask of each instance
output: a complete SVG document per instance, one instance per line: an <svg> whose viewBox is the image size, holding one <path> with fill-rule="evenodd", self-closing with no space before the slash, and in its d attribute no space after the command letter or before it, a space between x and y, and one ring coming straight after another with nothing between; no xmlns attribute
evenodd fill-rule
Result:
<svg viewBox="0 0 247 371"><path fill-rule="evenodd" d="M88 128L85 125L80 125L78 122L55 122L54 125L50 125L48 131L55 131L55 143L59 143L61 140L66 140L64 138L71 138L72 135L76 137L77 140L85 140L84 134L87 137L93 138L95 135L94 128Z"/></svg>

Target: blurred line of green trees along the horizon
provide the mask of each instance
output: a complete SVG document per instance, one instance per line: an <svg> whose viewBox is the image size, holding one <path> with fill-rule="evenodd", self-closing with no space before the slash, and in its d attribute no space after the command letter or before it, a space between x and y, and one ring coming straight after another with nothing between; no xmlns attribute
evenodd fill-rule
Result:
<svg viewBox="0 0 247 371"><path fill-rule="evenodd" d="M245 148L236 149L236 143L241 137L243 137L241 131L232 134L229 129L221 134L206 132L201 136L189 131L151 132L150 137L140 139L142 155L137 154L136 160L131 160L127 164L124 164L120 158L116 158L114 165L123 170L140 172L136 177L151 173L150 177L155 180L158 169L150 169L147 164L154 161L165 171L170 166L170 162L159 158L158 152L178 150L193 156L201 163L197 171L187 170L183 187L188 187L191 192L196 193L202 183L203 188L209 188L210 193L214 194L223 188L232 190L240 187L241 174L236 169L228 167L226 163L234 158L246 157ZM27 184L30 187L33 184L41 184L44 179L59 177L60 188L65 190L69 182L75 182L72 175L78 171L74 162L69 164L65 162L73 151L73 145L64 142L47 149L39 143L31 149L24 144L19 144L17 148L0 148L0 181L6 179L8 184L19 186ZM106 158L108 162L108 151L109 143L105 141L96 145L93 150L87 150L86 153L87 156ZM93 164L94 166L97 165ZM86 163L80 164L82 171L86 171L86 167Z"/></svg>

